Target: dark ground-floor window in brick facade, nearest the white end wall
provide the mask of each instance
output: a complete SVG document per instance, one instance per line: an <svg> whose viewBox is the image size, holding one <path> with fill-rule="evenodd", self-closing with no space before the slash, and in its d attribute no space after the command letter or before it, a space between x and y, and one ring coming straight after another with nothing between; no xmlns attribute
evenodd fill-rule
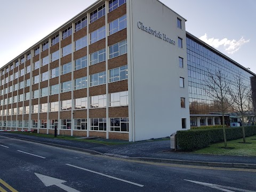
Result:
<svg viewBox="0 0 256 192"><path fill-rule="evenodd" d="M129 132L129 118L110 118L110 131Z"/></svg>

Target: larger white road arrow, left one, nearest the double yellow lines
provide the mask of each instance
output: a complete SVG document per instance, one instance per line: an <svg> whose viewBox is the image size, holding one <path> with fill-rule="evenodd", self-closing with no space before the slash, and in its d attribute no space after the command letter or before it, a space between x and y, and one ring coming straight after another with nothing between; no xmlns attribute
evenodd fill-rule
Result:
<svg viewBox="0 0 256 192"><path fill-rule="evenodd" d="M67 181L52 178L52 177L42 175L42 174L39 174L39 173L35 173L35 174L44 183L44 185L46 187L55 185L55 186L58 186L59 188L65 190L65 191L68 191L68 192L80 192L76 189L73 189L71 187L68 187L68 186L65 186L65 185L62 184L63 182L67 182Z"/></svg>

